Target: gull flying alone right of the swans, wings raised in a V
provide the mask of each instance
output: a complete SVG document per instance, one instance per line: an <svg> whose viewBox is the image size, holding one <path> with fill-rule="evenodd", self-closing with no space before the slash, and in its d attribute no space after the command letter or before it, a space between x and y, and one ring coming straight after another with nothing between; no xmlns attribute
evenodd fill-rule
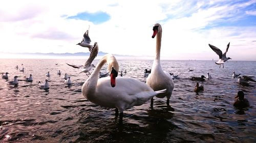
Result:
<svg viewBox="0 0 256 143"><path fill-rule="evenodd" d="M230 44L230 42L227 44L226 51L223 54L222 54L222 51L219 48L215 47L214 45L208 44L210 46L210 48L212 50L214 50L219 55L219 61L215 62L215 63L217 65L220 65L220 67L221 67L221 64L222 64L222 66L223 66L222 68L224 68L224 62L226 62L227 60L231 59L229 57L228 58L226 57L226 53L227 53L227 50L229 48L229 44Z"/></svg>

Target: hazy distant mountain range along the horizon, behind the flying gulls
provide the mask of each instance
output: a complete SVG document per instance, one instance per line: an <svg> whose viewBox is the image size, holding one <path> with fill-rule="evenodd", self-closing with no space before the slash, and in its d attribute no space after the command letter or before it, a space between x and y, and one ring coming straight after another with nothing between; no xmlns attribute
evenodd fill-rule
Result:
<svg viewBox="0 0 256 143"><path fill-rule="evenodd" d="M11 52L0 52L2 54L20 54L20 55L38 55L38 56L90 56L90 52L76 52L76 53L29 53L29 52L24 52L24 53L11 53ZM99 51L98 56L102 56L107 54L106 52ZM114 54L115 56L133 56L133 55L121 55L121 54Z"/></svg>

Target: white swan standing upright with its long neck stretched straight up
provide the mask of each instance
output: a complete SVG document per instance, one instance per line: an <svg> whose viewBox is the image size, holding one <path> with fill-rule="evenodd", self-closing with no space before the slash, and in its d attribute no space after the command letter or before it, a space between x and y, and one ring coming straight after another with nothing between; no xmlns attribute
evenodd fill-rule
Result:
<svg viewBox="0 0 256 143"><path fill-rule="evenodd" d="M161 49L161 39L162 39L162 27L159 23L156 23L153 27L153 36L156 36L156 56L153 62L150 75L146 79L146 84L149 85L154 91L166 89L165 93L158 94L156 97L164 98L166 96L166 104L168 107L170 96L174 90L174 81L172 76L166 71L163 71L160 65L160 49ZM153 98L151 99L151 106L153 106Z"/></svg>

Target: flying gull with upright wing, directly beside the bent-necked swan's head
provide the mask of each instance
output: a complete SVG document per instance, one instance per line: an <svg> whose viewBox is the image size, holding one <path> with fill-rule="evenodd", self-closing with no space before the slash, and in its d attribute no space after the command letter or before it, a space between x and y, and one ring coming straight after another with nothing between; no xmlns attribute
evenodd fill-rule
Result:
<svg viewBox="0 0 256 143"><path fill-rule="evenodd" d="M70 64L68 64L68 63L66 63L66 64L69 65L69 66L71 66L71 67L73 67L73 68L82 69L81 72L79 72L79 74L82 73L82 72L85 72L86 75L87 75L87 72L90 74L90 70L92 69L92 67L95 67L95 66L92 64L92 62L93 62L93 60L95 59L95 57L97 56L98 50L99 50L99 48L98 48L98 43L95 42L95 43L94 43L94 46L93 46L93 49L92 49L92 51L91 51L90 57L89 57L89 59L86 61L86 63L84 64L84 66L82 66L82 65L81 65L81 66L70 65ZM88 76L88 75L87 75L87 76ZM88 76L88 77L89 77L89 76Z"/></svg>

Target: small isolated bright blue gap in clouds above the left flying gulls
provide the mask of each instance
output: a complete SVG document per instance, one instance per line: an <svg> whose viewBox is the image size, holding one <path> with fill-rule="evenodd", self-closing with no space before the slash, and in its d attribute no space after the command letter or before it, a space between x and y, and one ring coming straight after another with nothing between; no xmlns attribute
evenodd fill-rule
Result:
<svg viewBox="0 0 256 143"><path fill-rule="evenodd" d="M96 13L78 13L75 16L69 16L68 19L79 19L79 20L88 20L93 22L94 24L100 24L110 19L110 15L104 12L96 12Z"/></svg>

